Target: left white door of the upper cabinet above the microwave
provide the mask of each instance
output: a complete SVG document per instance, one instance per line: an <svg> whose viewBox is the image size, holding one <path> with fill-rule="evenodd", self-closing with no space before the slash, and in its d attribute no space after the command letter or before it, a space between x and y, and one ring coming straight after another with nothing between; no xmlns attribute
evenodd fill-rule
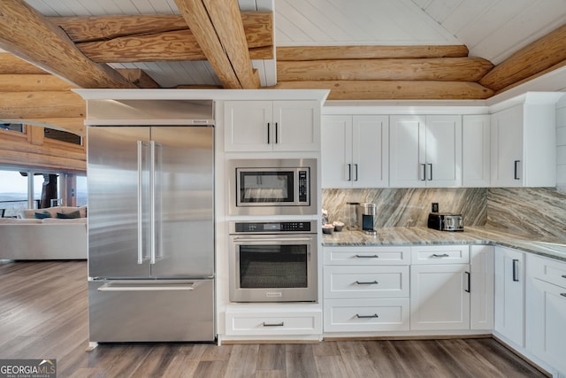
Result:
<svg viewBox="0 0 566 378"><path fill-rule="evenodd" d="M272 101L226 101L226 151L269 151L274 138Z"/></svg>

